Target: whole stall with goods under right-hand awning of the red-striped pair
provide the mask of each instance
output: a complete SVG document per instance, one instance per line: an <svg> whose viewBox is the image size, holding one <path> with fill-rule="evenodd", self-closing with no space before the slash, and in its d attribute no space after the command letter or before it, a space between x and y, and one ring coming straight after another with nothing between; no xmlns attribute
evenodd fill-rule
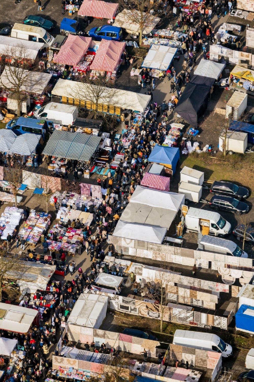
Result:
<svg viewBox="0 0 254 382"><path fill-rule="evenodd" d="M114 81L121 64L121 56L125 49L125 42L101 40L95 58L90 65L90 78L106 76L107 80Z"/></svg>

